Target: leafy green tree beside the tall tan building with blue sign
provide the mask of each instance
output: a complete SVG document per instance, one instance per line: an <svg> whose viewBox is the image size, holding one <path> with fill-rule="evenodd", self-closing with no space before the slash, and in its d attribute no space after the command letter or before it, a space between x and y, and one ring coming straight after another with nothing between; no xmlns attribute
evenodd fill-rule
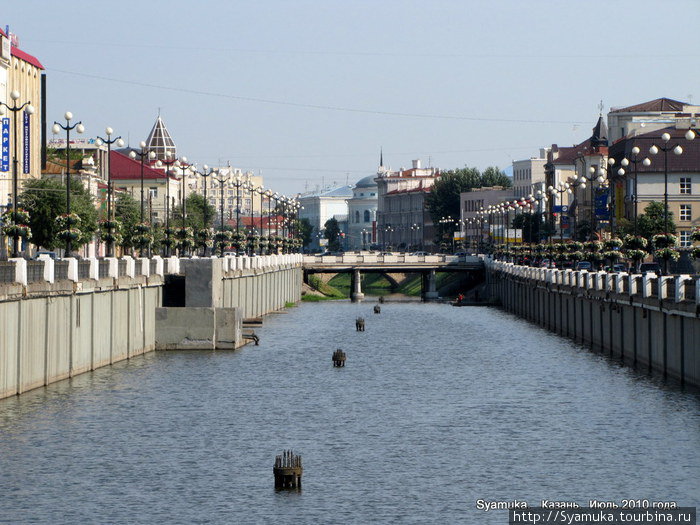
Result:
<svg viewBox="0 0 700 525"><path fill-rule="evenodd" d="M64 241L56 237L56 217L66 213L66 186L59 179L32 179L24 183L18 204L29 211L29 226L32 229L31 242L36 246L53 250L63 247ZM97 230L97 209L92 196L82 181L71 176L71 213L77 214L81 222L77 226L82 232L73 242L78 248L92 239Z"/></svg>

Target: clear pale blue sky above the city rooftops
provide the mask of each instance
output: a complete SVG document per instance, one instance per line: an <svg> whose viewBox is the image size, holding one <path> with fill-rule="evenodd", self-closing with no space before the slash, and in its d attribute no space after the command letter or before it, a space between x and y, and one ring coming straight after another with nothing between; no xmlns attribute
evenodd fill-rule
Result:
<svg viewBox="0 0 700 525"><path fill-rule="evenodd" d="M160 112L190 162L284 194L413 159L510 167L599 115L700 103L700 2L22 0L3 5L47 74L50 123L132 146Z"/></svg>

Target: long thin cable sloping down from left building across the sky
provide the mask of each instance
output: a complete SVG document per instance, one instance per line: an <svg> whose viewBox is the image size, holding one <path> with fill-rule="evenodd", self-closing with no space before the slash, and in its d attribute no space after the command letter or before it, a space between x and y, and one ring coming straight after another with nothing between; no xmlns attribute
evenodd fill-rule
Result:
<svg viewBox="0 0 700 525"><path fill-rule="evenodd" d="M372 110L372 109L360 109L360 108L349 108L349 107L343 107L343 106L327 106L323 104L306 104L306 103L301 103L301 102L289 102L289 101L284 101L284 100L273 100L273 99L265 99L265 98L256 98L256 97L244 97L241 95L230 95L226 93L216 93L214 91L201 91L197 89L188 89L188 88L183 88L183 87L175 87L175 86L165 86L161 84L153 84L150 82L140 82L136 80L124 80L121 78L113 78L113 77L106 77L103 75L93 75L90 73L78 73L75 71L66 71L64 69L55 69L55 68L49 68L49 71L53 71L55 73L63 73L65 75L74 75L78 77L84 77L84 78L93 78L97 80L106 80L109 82L118 82L120 84L130 84L134 86L141 86L141 87L148 87L148 88L153 88L153 89L164 89L168 91L176 91L179 93L190 93L192 95L202 95L202 96L209 96L209 97L218 97L218 98L225 98L225 99L230 99L230 100L242 100L245 102L258 102L261 104L275 104L279 106L290 106L290 107L297 107L297 108L306 108L306 109L324 109L324 110L329 110L329 111L343 111L347 113L362 113L365 115L383 115L383 116L388 116L388 117L410 117L410 118L423 118L423 119L442 119L442 120L465 120L465 121L472 121L472 122L503 122L503 123L511 123L511 124L586 124L585 122L581 121L572 121L572 120L536 120L536 119L508 119L508 118L489 118L489 117L464 117L464 116L458 116L458 115L434 115L430 113L403 113L403 112L395 112L395 111L378 111L378 110Z"/></svg>

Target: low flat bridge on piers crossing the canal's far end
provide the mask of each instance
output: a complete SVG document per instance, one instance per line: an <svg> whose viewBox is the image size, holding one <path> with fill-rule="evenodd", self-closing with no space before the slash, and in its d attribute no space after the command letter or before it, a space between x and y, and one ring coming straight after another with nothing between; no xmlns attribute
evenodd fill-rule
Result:
<svg viewBox="0 0 700 525"><path fill-rule="evenodd" d="M437 299L436 272L482 272L484 261L469 255L377 255L343 254L303 258L304 281L313 273L352 273L352 301L361 301L362 273L420 273L422 275L421 296L426 300Z"/></svg>

